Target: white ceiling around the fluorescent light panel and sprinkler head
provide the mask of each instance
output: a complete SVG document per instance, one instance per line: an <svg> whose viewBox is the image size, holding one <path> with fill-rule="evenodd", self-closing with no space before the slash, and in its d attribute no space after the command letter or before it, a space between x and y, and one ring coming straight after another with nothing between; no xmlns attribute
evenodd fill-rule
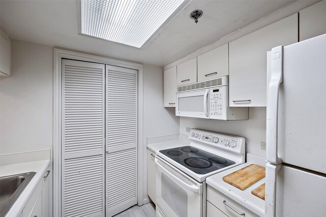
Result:
<svg viewBox="0 0 326 217"><path fill-rule="evenodd" d="M143 49L78 35L76 1L1 0L0 19L13 39L165 66L291 2L193 0ZM197 24L195 9L204 12Z"/></svg>

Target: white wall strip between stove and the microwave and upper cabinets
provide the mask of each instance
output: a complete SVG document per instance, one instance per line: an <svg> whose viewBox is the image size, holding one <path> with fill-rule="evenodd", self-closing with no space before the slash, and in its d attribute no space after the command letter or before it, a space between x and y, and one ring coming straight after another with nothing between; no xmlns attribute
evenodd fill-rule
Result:
<svg viewBox="0 0 326 217"><path fill-rule="evenodd" d="M246 152L265 157L266 151L260 149L260 142L266 142L266 108L249 108L248 120L209 120L180 117L180 134L188 136L185 128L199 128L220 133L233 134L246 138Z"/></svg>

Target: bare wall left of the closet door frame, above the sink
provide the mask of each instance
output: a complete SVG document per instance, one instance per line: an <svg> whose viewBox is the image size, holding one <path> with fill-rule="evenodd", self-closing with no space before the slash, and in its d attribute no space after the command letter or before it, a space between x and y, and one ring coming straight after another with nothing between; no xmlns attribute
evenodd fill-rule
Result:
<svg viewBox="0 0 326 217"><path fill-rule="evenodd" d="M0 80L1 154L52 148L53 49L12 40L11 77Z"/></svg>

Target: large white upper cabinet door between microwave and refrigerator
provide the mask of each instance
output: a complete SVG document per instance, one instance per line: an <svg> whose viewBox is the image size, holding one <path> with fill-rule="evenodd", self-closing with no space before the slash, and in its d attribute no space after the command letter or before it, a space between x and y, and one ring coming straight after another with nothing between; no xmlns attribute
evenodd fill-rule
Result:
<svg viewBox="0 0 326 217"><path fill-rule="evenodd" d="M298 40L298 14L293 14L229 44L229 104L266 106L267 51Z"/></svg>

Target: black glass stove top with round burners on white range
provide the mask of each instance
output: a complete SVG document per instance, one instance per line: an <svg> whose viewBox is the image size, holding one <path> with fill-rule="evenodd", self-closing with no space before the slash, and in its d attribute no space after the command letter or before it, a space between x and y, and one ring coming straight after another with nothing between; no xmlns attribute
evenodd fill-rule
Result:
<svg viewBox="0 0 326 217"><path fill-rule="evenodd" d="M235 164L234 161L193 146L170 148L159 152L197 174L210 173Z"/></svg>

